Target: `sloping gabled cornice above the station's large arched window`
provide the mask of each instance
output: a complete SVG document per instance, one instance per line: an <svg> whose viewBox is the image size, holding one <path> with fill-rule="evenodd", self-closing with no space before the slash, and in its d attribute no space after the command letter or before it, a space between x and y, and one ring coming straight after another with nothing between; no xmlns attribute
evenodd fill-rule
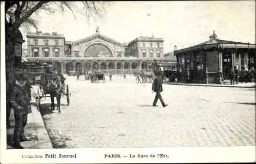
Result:
<svg viewBox="0 0 256 164"><path fill-rule="evenodd" d="M111 39L111 38L109 38L109 37L106 37L106 36L104 36L104 35L102 35L102 34L99 34L99 33L95 33L95 34L93 34L93 35L91 35L91 36L89 36L89 37L85 37L85 38L82 38L82 39L73 41L71 44L74 46L74 45L78 45L78 44L82 44L82 43L91 41L91 40L96 39L96 38L102 39L102 40L104 40L104 41L106 41L106 42L110 42L110 43L113 43L113 44L117 44L117 45L119 45L119 46L123 46L122 43L120 43L120 42L118 42L118 41L116 41L116 40L114 40L114 39Z"/></svg>

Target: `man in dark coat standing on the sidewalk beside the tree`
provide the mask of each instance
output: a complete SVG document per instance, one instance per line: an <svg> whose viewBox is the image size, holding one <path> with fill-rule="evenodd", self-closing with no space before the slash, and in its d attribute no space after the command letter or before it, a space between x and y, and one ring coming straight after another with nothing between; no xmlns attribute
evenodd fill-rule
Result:
<svg viewBox="0 0 256 164"><path fill-rule="evenodd" d="M24 149L20 142L31 141L26 138L24 128L27 124L28 114L31 113L31 86L27 84L27 76L22 73L17 79L16 85L13 87L10 96L11 107L14 109L15 126L13 136L13 148Z"/></svg>

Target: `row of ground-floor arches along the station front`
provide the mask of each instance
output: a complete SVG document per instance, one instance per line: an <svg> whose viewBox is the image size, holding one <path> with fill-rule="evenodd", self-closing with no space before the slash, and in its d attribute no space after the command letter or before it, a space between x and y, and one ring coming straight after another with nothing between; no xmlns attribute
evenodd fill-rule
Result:
<svg viewBox="0 0 256 164"><path fill-rule="evenodd" d="M63 62L62 73L69 74L70 71L75 71L85 74L100 71L112 74L130 74L135 70L150 71L149 63L150 61L66 61Z"/></svg>

